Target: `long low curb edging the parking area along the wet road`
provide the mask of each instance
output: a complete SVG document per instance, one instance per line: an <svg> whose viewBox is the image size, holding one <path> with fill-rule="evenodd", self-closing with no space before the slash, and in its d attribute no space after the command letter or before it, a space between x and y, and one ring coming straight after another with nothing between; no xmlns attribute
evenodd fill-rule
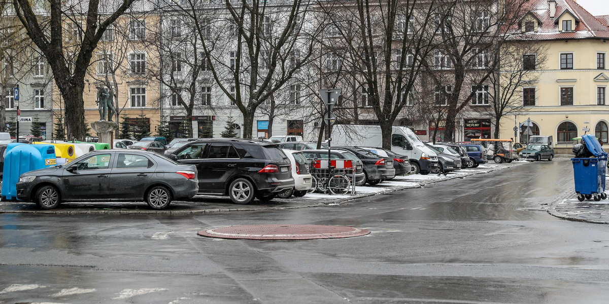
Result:
<svg viewBox="0 0 609 304"><path fill-rule="evenodd" d="M519 165L519 164L517 164ZM515 166L512 166L515 167ZM404 187L397 187L397 188L391 188L391 189L387 189L383 192L372 192L372 193L365 193L365 194L361 194L361 195L355 195L355 196L351 196L348 198L340 198L340 199L335 199L333 201L328 201L328 202L319 202L317 204L312 204L309 206L282 206L282 207L265 207L265 208L261 208L261 207L252 207L252 208L225 208L225 209L211 209L211 210L74 210L74 211L64 211L64 210L60 210L60 211L47 211L47 210L0 210L0 214L43 214L43 215L107 215L107 214L124 214L124 215L133 215L133 214L150 214L150 215L155 215L155 214L169 214L169 215L186 215L186 214L204 214L204 213L218 213L218 212L258 212L258 211L272 211L272 210L289 210L289 209L300 209L300 208L311 208L311 207L321 207L321 206L328 206L329 204L340 204L342 202L347 202L347 201L353 201L354 199L360 199L360 198L367 198L369 196L374 196L374 195L381 195L384 193L390 193L390 192L396 192L396 191L401 191L401 190L406 190L406 189L412 189L412 188L421 188L424 187L426 185L431 185L431 184L435 184L438 182L445 182L445 181L451 181L452 179L463 179L466 178L467 176L474 176L477 174L487 174L487 173L491 173L493 171L498 171L498 170L504 170L507 168L511 168L511 167L499 167L499 168L493 168L491 170L488 171L477 171L475 173L471 173L470 175L466 175L466 176L451 176L450 178L446 178L446 179L440 179L438 181L429 181L429 182L421 182L421 183L417 183L417 185L410 185L410 186L404 186Z"/></svg>

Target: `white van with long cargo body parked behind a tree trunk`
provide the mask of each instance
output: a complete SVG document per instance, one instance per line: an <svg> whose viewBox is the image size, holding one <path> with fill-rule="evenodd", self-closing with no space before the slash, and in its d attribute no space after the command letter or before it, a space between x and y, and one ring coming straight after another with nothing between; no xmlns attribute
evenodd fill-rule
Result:
<svg viewBox="0 0 609 304"><path fill-rule="evenodd" d="M332 145L382 147L381 126L334 125ZM416 173L428 174L438 167L438 157L434 151L405 126L393 126L391 151L406 155Z"/></svg>

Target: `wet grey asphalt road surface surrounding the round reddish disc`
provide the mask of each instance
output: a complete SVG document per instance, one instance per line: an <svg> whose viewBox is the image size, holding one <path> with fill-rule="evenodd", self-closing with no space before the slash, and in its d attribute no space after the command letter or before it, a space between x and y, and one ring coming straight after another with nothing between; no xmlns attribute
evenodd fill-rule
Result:
<svg viewBox="0 0 609 304"><path fill-rule="evenodd" d="M568 161L278 212L0 215L0 303L608 303L609 226L541 209ZM231 224L363 227L341 240L197 237ZM8 288L8 289L6 289Z"/></svg>

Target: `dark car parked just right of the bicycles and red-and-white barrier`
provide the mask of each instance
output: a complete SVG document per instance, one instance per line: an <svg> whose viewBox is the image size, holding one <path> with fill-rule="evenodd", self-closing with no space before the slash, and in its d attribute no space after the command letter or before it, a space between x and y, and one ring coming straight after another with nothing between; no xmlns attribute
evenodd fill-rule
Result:
<svg viewBox="0 0 609 304"><path fill-rule="evenodd" d="M395 169L393 168L393 159L385 159L378 154L368 150L355 147L338 146L332 147L336 150L350 151L364 163L365 180L370 185L376 185L385 179L395 178Z"/></svg>

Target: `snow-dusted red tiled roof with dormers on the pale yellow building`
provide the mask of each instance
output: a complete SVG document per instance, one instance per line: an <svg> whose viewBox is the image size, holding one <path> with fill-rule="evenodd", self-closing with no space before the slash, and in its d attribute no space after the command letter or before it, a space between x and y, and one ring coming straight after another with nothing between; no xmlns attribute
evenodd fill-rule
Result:
<svg viewBox="0 0 609 304"><path fill-rule="evenodd" d="M609 16L593 16L574 0L555 0L555 18L550 18L547 0L529 2L528 13L536 16L541 24L537 32L523 33L514 37L516 40L562 40L583 38L609 38ZM576 28L573 32L558 31L558 17L569 12L576 17ZM513 32L520 32L521 27L514 26Z"/></svg>

